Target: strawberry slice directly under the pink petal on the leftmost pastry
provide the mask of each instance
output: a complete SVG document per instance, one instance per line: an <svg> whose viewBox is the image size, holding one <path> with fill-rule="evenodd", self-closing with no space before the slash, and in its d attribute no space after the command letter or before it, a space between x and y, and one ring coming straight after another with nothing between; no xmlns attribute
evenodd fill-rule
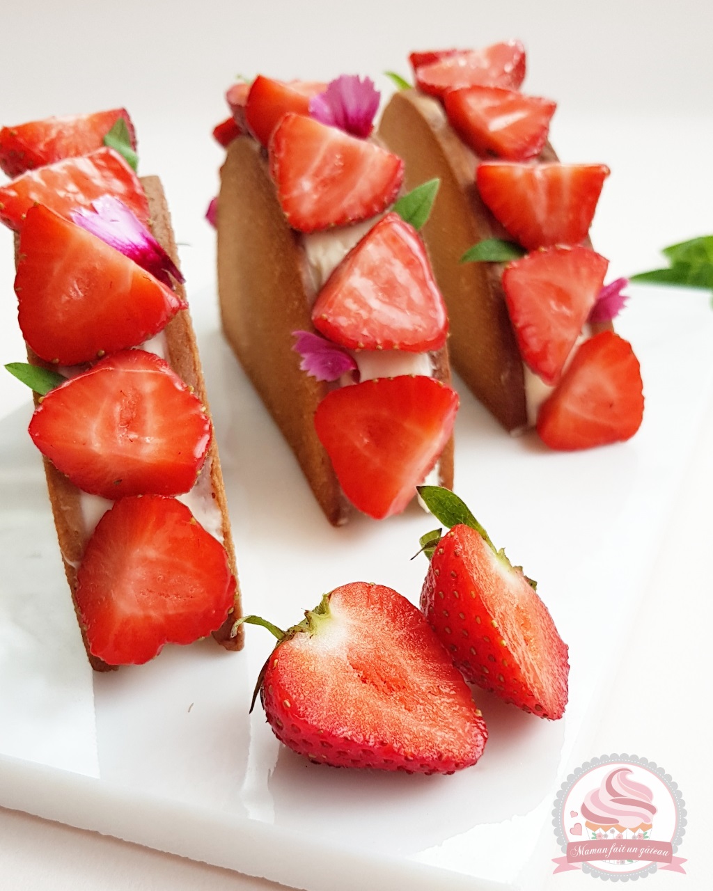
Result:
<svg viewBox="0 0 713 891"><path fill-rule="evenodd" d="M186 307L133 260L41 204L20 233L15 292L29 346L62 365L135 347Z"/></svg>

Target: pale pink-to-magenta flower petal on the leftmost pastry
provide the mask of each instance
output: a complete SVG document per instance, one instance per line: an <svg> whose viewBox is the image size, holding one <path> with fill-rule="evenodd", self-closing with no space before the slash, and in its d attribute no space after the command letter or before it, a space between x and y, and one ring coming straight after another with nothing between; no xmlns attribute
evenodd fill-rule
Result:
<svg viewBox="0 0 713 891"><path fill-rule="evenodd" d="M94 211L72 210L72 221L134 260L168 288L173 287L171 279L185 281L173 260L123 201L102 195L92 202L92 207Z"/></svg>

